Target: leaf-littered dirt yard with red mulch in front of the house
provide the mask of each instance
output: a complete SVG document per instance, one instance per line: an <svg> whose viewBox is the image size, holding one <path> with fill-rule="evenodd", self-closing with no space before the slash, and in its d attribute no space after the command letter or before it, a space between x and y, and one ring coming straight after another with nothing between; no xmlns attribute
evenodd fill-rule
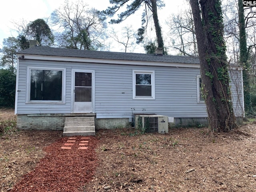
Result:
<svg viewBox="0 0 256 192"><path fill-rule="evenodd" d="M100 130L83 151L61 150L61 133L0 135L0 191L256 192L254 123L216 135L206 128Z"/></svg>

